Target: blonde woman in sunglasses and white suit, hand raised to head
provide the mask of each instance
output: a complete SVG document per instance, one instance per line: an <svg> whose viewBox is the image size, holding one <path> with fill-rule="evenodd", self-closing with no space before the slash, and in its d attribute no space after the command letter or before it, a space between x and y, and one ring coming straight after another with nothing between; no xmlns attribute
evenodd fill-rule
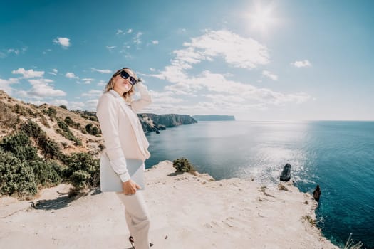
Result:
<svg viewBox="0 0 374 249"><path fill-rule="evenodd" d="M139 100L132 100L135 85L140 92ZM125 205L130 242L136 248L150 248L148 231L150 218L140 189L130 179L125 159L148 159L149 144L136 112L150 105L151 97L133 70L122 68L113 74L98 101L97 116L103 132L106 154L110 165L122 181L123 192L116 192ZM144 167L144 164L143 164Z"/></svg>

